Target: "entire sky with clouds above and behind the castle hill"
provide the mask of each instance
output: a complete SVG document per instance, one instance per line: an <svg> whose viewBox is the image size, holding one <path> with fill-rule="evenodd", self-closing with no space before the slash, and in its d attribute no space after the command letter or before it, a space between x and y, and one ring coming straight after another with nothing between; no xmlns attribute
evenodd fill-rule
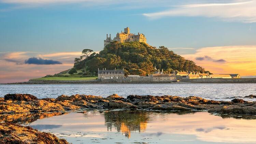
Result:
<svg viewBox="0 0 256 144"><path fill-rule="evenodd" d="M0 83L72 68L130 27L213 73L256 75L256 0L0 0Z"/></svg>

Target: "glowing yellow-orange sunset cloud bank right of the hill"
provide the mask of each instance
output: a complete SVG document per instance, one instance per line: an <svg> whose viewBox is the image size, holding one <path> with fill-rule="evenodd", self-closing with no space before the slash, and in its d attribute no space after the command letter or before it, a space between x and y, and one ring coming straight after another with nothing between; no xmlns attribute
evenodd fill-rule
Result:
<svg viewBox="0 0 256 144"><path fill-rule="evenodd" d="M256 75L256 46L204 47L195 54L182 55L212 73L239 73L241 76ZM205 56L213 60L201 59ZM218 62L217 60L225 60Z"/></svg>

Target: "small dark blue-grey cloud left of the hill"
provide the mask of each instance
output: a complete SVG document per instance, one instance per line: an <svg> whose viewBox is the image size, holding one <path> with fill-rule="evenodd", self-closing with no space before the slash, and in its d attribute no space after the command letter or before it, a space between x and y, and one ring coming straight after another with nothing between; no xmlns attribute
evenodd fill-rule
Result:
<svg viewBox="0 0 256 144"><path fill-rule="evenodd" d="M35 57L25 60L25 63L26 64L62 64L62 62L60 62L60 61L35 58Z"/></svg>

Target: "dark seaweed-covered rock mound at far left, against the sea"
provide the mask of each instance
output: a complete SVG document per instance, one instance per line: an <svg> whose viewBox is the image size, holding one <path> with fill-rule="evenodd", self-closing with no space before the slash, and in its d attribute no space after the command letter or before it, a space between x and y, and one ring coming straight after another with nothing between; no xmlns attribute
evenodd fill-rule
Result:
<svg viewBox="0 0 256 144"><path fill-rule="evenodd" d="M31 101L37 100L37 97L30 94L7 94L4 96L4 100L17 100L17 101Z"/></svg>

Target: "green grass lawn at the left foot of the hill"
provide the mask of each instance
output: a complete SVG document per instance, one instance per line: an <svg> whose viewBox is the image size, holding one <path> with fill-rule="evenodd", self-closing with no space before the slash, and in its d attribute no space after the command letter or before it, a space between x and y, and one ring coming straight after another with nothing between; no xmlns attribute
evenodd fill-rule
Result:
<svg viewBox="0 0 256 144"><path fill-rule="evenodd" d="M78 76L53 76L53 77L41 77L41 78L34 78L32 80L59 80L59 81L90 81L90 80L96 80L97 76L93 77L78 77Z"/></svg>

